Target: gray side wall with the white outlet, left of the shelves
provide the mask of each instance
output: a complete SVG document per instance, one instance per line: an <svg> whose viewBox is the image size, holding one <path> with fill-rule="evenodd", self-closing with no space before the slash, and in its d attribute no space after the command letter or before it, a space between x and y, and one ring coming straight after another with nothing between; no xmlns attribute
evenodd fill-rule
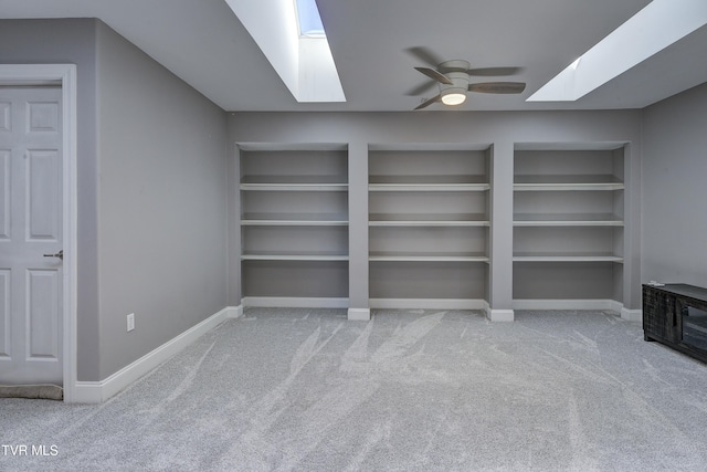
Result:
<svg viewBox="0 0 707 472"><path fill-rule="evenodd" d="M106 378L226 306L226 126L221 108L103 23L97 84Z"/></svg>

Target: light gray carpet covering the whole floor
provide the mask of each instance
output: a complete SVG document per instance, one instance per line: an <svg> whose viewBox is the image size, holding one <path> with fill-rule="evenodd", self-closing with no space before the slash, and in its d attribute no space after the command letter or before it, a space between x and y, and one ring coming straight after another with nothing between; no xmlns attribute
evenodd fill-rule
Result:
<svg viewBox="0 0 707 472"><path fill-rule="evenodd" d="M3 471L700 471L707 367L610 312L251 308L104 405L0 399L0 443L45 448Z"/></svg>

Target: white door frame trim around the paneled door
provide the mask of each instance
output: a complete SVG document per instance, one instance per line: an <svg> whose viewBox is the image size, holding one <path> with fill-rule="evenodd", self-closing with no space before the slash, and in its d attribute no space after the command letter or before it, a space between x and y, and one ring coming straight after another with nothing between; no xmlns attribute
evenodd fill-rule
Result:
<svg viewBox="0 0 707 472"><path fill-rule="evenodd" d="M76 398L77 377L77 153L76 153L76 65L0 64L0 83L36 85L59 83L62 87L62 218L63 218L63 382L64 401Z"/></svg>

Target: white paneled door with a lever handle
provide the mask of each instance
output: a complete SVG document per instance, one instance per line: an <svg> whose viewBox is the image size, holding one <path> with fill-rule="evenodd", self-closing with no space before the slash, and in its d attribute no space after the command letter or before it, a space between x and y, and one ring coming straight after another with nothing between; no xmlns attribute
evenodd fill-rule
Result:
<svg viewBox="0 0 707 472"><path fill-rule="evenodd" d="M61 97L0 87L0 384L63 384Z"/></svg>

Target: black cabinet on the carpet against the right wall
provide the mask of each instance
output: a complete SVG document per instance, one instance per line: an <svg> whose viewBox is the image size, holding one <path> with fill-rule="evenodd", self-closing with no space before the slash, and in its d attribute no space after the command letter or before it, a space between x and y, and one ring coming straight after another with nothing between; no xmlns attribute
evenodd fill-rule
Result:
<svg viewBox="0 0 707 472"><path fill-rule="evenodd" d="M707 289L643 285L643 335L707 361Z"/></svg>

